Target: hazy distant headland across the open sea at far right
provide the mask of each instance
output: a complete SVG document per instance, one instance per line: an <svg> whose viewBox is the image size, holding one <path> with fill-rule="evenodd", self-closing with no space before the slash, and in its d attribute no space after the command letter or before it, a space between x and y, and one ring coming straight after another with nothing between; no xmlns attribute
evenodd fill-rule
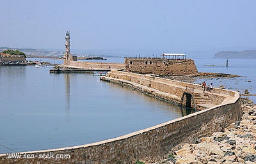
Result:
<svg viewBox="0 0 256 164"><path fill-rule="evenodd" d="M221 51L214 55L217 59L256 59L256 50Z"/></svg>

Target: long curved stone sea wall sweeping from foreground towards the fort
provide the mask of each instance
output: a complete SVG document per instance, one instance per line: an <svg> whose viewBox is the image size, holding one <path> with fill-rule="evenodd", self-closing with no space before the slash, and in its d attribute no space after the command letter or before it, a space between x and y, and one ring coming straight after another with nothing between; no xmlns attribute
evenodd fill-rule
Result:
<svg viewBox="0 0 256 164"><path fill-rule="evenodd" d="M180 101L182 92L189 88L201 89L201 86L175 80L168 80L148 75L111 71L108 77L102 80L116 82L124 86L131 86L140 91L152 93L170 101ZM8 159L6 154L0 155L0 163L134 163L136 160L156 161L173 153L182 144L194 143L200 137L210 136L215 131L223 130L230 123L238 121L241 117L241 105L239 93L225 89L215 89L212 99L218 99L211 108L180 117L163 124L135 131L128 135L95 142L93 144L51 149L45 151L32 151L21 153L23 156L33 154L69 154L70 159L57 158L42 159ZM161 97L161 98L162 98ZM165 155L165 156L163 156Z"/></svg>

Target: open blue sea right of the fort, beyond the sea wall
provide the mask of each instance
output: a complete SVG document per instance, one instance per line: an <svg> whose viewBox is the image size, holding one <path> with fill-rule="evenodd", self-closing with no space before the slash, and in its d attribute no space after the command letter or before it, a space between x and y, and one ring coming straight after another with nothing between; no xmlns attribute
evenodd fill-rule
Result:
<svg viewBox="0 0 256 164"><path fill-rule="evenodd" d="M240 93L244 93L244 90L248 89L250 94L256 94L256 59L228 59L228 67L226 67L226 62L227 59L195 59L196 67L200 72L228 73L241 76L207 79L207 85L213 83L214 87L224 86L225 89ZM202 83L203 80L205 79L197 78L195 83ZM246 97L256 103L256 96Z"/></svg>

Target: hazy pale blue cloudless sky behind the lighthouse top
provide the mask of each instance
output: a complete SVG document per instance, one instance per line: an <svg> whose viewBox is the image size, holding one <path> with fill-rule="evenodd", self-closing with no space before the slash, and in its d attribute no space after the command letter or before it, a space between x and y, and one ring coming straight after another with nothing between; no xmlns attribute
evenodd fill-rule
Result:
<svg viewBox="0 0 256 164"><path fill-rule="evenodd" d="M1 0L0 46L200 50L255 47L256 1Z"/></svg>

